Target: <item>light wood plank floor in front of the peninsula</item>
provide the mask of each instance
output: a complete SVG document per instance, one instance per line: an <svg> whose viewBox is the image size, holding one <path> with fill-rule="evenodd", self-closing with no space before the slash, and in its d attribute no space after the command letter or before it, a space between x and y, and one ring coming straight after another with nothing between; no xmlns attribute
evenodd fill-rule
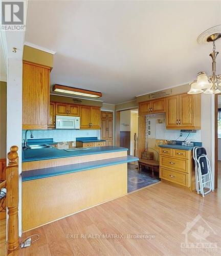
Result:
<svg viewBox="0 0 221 256"><path fill-rule="evenodd" d="M203 232L207 242L217 243L217 248L182 251L182 232L197 215L210 227L209 236ZM204 225L199 220L194 231L202 231ZM19 255L220 255L221 190L202 198L183 188L158 183L26 232L23 239L35 233L40 239L20 249ZM98 234L109 236L98 238ZM112 234L117 236L113 238ZM128 238L129 234L154 237L136 239ZM196 241L189 235L189 243Z"/></svg>

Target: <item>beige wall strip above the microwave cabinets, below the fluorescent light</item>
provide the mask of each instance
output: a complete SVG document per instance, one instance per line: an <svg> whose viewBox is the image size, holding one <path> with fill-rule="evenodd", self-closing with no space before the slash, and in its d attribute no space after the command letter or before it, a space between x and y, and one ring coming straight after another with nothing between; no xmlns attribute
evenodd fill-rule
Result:
<svg viewBox="0 0 221 256"><path fill-rule="evenodd" d="M89 106L102 106L101 101L77 99L77 98L57 96L57 95L50 95L50 101L64 102L64 103L70 103L70 104L75 103L79 105L89 105Z"/></svg>

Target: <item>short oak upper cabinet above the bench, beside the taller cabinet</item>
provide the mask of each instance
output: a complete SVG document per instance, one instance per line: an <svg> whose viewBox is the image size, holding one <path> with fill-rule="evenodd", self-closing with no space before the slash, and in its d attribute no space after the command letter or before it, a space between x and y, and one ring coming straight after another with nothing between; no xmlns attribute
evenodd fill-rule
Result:
<svg viewBox="0 0 221 256"><path fill-rule="evenodd" d="M165 112L165 98L141 102L139 115L157 114Z"/></svg>

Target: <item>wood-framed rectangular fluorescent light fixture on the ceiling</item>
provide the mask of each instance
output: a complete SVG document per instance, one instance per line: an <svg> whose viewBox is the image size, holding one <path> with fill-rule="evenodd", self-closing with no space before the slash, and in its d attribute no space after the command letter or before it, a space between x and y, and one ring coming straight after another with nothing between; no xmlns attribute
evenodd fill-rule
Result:
<svg viewBox="0 0 221 256"><path fill-rule="evenodd" d="M84 97L92 97L92 98L102 97L102 93L100 93L100 92L94 92L94 91L73 88L73 87L68 87L68 86L61 86L60 84L55 84L53 86L53 91L59 92L59 93L74 94L74 95L79 95L79 96L84 96Z"/></svg>

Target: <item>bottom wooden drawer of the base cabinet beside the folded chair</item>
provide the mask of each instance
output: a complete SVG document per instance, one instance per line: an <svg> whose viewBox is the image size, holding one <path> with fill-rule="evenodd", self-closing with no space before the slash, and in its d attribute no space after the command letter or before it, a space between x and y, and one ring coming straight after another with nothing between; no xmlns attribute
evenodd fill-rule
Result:
<svg viewBox="0 0 221 256"><path fill-rule="evenodd" d="M160 167L160 178L163 180L171 181L175 184L188 187L188 174Z"/></svg>

